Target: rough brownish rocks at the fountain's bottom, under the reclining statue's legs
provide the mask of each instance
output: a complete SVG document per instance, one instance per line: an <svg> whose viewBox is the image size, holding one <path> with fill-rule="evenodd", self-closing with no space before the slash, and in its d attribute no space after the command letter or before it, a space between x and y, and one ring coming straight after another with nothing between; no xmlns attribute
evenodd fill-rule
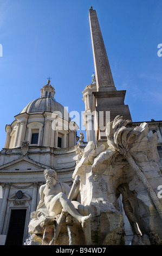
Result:
<svg viewBox="0 0 162 256"><path fill-rule="evenodd" d="M25 242L27 245L85 245L85 237L79 221L68 215L63 223L59 236L55 241L56 217L45 216L43 218L33 218L29 223L30 237Z"/></svg>

